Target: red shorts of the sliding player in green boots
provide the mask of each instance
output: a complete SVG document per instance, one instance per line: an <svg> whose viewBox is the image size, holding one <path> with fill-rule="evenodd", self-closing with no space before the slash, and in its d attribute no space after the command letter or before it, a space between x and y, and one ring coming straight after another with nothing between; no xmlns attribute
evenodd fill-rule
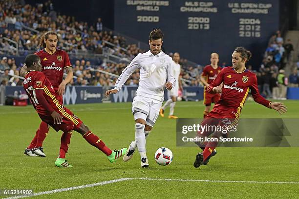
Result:
<svg viewBox="0 0 299 199"><path fill-rule="evenodd" d="M62 117L63 122L61 124L54 124L54 120L51 115L41 115L40 118L53 127L55 131L62 130L63 132L69 132L72 130L79 129L83 123L76 115L73 114L69 109L63 108L63 110L57 111Z"/></svg>

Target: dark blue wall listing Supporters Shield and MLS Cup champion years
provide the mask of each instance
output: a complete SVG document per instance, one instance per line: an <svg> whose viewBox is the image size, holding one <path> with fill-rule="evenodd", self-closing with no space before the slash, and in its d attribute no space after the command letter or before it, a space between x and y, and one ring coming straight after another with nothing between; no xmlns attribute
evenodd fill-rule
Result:
<svg viewBox="0 0 299 199"><path fill-rule="evenodd" d="M163 31L165 52L201 64L209 64L216 52L221 63L229 64L242 45L253 52L249 64L255 68L279 29L279 0L115 1L115 31L147 43L153 29Z"/></svg>

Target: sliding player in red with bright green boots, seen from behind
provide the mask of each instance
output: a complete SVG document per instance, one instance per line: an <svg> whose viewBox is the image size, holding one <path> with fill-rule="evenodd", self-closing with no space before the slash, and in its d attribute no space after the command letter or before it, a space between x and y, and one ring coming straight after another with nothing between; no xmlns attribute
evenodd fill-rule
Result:
<svg viewBox="0 0 299 199"><path fill-rule="evenodd" d="M55 161L55 166L72 167L65 160L65 154L73 130L79 132L89 144L101 150L110 162L115 162L123 154L126 154L127 148L111 151L103 140L94 135L76 115L64 107L61 101L58 100L58 94L50 80L41 72L42 65L39 56L28 55L25 58L25 63L28 72L23 81L23 87L33 107L43 122L52 126L56 131L62 130L64 132L61 137L59 157Z"/></svg>

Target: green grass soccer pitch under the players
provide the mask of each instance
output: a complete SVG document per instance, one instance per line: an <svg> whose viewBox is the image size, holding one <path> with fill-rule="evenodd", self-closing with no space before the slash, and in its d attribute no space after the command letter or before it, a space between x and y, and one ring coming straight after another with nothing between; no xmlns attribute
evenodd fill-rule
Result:
<svg viewBox="0 0 299 199"><path fill-rule="evenodd" d="M299 101L284 102L288 107L288 113L283 116L255 102L246 102L241 118L299 118ZM131 103L67 107L112 149L128 147L134 139ZM177 102L175 114L180 118L201 118L203 108L201 101ZM32 189L34 193L38 193L122 179L123 181L44 194L35 198L299 198L299 148L296 147L222 147L218 148L218 154L208 165L195 169L192 164L196 153L199 152L198 148L176 147L176 121L159 117L147 140L149 169L140 168L138 152L128 162L120 159L117 163L110 163L103 153L90 146L79 133L73 133L66 154L68 162L74 167L56 168L54 162L59 152L61 132L50 129L43 142L46 158L32 158L23 154L40 124L32 106L0 107L0 121L0 190ZM169 166L155 163L154 153L162 146L172 150L173 161Z"/></svg>

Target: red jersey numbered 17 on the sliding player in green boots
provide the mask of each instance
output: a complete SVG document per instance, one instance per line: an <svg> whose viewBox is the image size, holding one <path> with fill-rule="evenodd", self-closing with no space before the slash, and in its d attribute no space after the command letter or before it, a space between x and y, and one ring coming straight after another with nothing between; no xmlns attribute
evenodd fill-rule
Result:
<svg viewBox="0 0 299 199"><path fill-rule="evenodd" d="M51 82L42 72L28 71L23 81L23 87L39 115L48 116L51 114L49 114L49 112L39 104L35 95L36 89L43 89L44 98L56 112L59 112L59 110L63 108L63 105L60 104L56 98L57 94L55 93Z"/></svg>

